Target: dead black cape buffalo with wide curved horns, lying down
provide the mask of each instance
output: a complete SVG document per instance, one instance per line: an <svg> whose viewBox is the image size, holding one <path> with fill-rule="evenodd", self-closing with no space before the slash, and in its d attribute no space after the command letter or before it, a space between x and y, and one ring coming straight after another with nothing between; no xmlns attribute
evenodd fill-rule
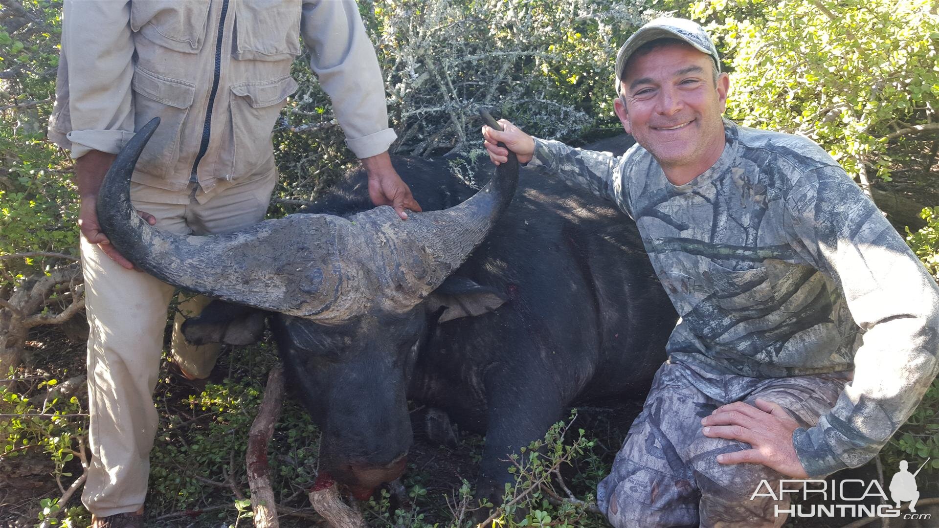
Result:
<svg viewBox="0 0 939 528"><path fill-rule="evenodd" d="M498 498L511 481L500 458L575 400L644 398L665 359L675 312L635 225L591 194L533 171L516 191L517 163L477 193L446 163L398 158L431 212L402 222L373 209L360 171L309 214L172 235L131 208L149 132L103 185L108 237L146 272L229 302L188 321L195 342L252 342L256 309L271 315L288 379L322 430L321 474L360 496L404 471L408 398L485 432L477 496Z"/></svg>

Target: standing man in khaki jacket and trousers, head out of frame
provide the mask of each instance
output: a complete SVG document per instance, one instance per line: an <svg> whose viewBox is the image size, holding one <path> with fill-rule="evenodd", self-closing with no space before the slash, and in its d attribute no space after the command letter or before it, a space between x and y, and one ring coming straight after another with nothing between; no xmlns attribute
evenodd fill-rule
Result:
<svg viewBox="0 0 939 528"><path fill-rule="evenodd" d="M161 124L137 163L131 199L151 225L221 233L264 218L277 179L270 133L297 89L300 54L330 95L376 205L421 210L388 156L385 92L352 0L66 0L49 136L69 148L81 196L88 399L93 458L82 500L93 526L141 526L152 394L173 287L133 270L100 232L101 180L134 130ZM223 262L219 263L224 266ZM187 377L216 352L182 347Z"/></svg>

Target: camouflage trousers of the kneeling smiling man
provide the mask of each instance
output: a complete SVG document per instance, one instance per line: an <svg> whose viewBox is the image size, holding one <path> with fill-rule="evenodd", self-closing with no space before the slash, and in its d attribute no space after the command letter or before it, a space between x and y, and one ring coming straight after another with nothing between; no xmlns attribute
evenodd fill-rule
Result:
<svg viewBox="0 0 939 528"><path fill-rule="evenodd" d="M811 427L838 399L849 373L757 379L702 374L666 363L629 429L597 502L617 528L653 526L781 526L774 505L789 501L750 496L762 479L776 489L782 474L760 464L721 465L716 457L749 444L708 438L700 419L734 401L776 402L802 427ZM710 395L710 396L709 396ZM720 397L716 397L720 396Z"/></svg>

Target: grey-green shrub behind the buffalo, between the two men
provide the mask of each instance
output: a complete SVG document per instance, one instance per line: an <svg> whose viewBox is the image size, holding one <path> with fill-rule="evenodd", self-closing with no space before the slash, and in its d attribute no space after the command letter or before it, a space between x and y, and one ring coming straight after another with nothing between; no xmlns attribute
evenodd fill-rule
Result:
<svg viewBox="0 0 939 528"><path fill-rule="evenodd" d="M613 0L363 0L390 92L393 152L481 146L481 106L549 139L621 131L613 57L645 9L644 1ZM310 199L354 162L306 60L294 65L300 90L275 136L288 198Z"/></svg>

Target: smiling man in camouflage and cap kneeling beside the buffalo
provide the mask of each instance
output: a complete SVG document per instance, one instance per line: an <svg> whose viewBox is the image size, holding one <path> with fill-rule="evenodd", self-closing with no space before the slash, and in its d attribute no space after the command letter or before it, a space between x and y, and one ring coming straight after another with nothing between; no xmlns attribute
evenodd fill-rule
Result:
<svg viewBox="0 0 939 528"><path fill-rule="evenodd" d="M724 120L697 23L657 19L616 60L622 158L484 127L522 163L615 202L681 315L598 503L617 527L781 526L762 480L877 454L937 372L939 287L805 137ZM775 488L775 487L774 487Z"/></svg>

